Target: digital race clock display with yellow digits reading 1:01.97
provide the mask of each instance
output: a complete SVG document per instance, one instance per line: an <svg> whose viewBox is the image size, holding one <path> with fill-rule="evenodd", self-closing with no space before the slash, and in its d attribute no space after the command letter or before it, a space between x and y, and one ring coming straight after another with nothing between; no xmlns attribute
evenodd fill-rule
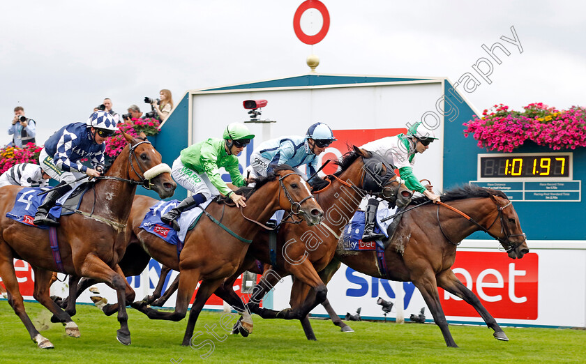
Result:
<svg viewBox="0 0 586 364"><path fill-rule="evenodd" d="M568 177L568 155L481 156L481 178Z"/></svg>

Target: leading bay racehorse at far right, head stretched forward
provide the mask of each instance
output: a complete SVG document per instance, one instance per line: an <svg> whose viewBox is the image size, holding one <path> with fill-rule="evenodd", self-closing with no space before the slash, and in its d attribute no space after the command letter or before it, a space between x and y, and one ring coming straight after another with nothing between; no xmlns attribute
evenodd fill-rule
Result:
<svg viewBox="0 0 586 364"><path fill-rule="evenodd" d="M440 326L446 345L458 347L440 304L437 287L442 287L472 305L486 325L495 331L493 335L497 340L508 341L509 338L497 321L483 307L479 298L456 278L451 266L456 259L456 248L460 241L476 231L487 232L496 238L511 259L523 258L529 248L513 204L503 192L475 185L445 192L442 195L442 202L446 203L444 206L421 204L423 201L426 201L426 197L414 199L414 206L403 213L394 236L386 242L390 244L384 251L383 266L387 267L386 272L378 263L376 252L346 252L341 248L340 241L335 259L320 272L320 277L324 282L329 282L340 268L341 261L355 271L372 277L413 282L433 314L435 324ZM331 307L326 307L326 310L334 324L345 325ZM308 321L303 322L303 329L306 335L311 335Z"/></svg>

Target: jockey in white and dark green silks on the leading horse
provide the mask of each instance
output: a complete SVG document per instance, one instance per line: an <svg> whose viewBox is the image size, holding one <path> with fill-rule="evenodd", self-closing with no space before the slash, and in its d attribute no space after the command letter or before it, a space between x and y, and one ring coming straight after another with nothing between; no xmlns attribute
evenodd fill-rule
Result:
<svg viewBox="0 0 586 364"><path fill-rule="evenodd" d="M361 146L373 153L382 156L384 160L391 163L391 167L399 169L399 174L405 186L410 190L420 192L434 203L440 201L440 196L433 193L433 185L425 187L413 174L415 154L428 150L429 144L436 140L433 130L426 128L421 122L415 123L407 130L407 135L399 134L394 137L369 142ZM375 198L368 199L368 205L364 213L364 234L362 241L375 241L384 238L384 234L375 234L375 220L379 201Z"/></svg>

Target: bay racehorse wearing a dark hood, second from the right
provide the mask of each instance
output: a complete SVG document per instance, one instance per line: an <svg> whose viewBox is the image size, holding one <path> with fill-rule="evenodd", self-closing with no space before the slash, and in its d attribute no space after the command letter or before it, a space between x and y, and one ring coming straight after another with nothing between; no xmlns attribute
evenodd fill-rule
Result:
<svg viewBox="0 0 586 364"><path fill-rule="evenodd" d="M411 200L412 192L400 182L393 169L382 158L369 151L354 146L354 150L345 154L336 164L339 171L326 176L327 181L323 181L322 186L315 186L316 189L321 188L315 192L320 206L327 208L325 220L320 226L283 224L273 248L268 232L262 231L255 236L249 254L271 264L276 274L264 275L253 289L254 296L262 298L285 275L294 275L295 280L291 290L291 308L278 312L259 308L260 300L257 300L247 303L250 312L269 319L307 320L309 312L326 299L327 289L317 271L325 268L333 258L338 235L350 222L361 199L365 195L378 195L398 206L405 206ZM273 252L279 254L275 256ZM240 301L232 288L233 279L234 277L227 280L215 292L216 296L220 296L230 305L236 305ZM308 294L310 296L306 300ZM246 335L242 330L239 332ZM189 322L183 340L192 334L193 324Z"/></svg>

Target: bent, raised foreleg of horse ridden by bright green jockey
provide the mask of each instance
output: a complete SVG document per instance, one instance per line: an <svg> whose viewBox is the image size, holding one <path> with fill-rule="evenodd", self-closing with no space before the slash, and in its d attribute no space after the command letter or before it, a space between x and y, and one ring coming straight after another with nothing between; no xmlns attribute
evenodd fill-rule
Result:
<svg viewBox="0 0 586 364"><path fill-rule="evenodd" d="M179 274L179 289L177 290L177 299L175 302L174 312L163 312L147 307L144 301L137 301L132 304L132 307L144 313L149 319L154 320L169 320L181 321L187 313L189 301L193 296L193 291L197 287L197 282L200 278L200 272L197 269L183 269Z"/></svg>

